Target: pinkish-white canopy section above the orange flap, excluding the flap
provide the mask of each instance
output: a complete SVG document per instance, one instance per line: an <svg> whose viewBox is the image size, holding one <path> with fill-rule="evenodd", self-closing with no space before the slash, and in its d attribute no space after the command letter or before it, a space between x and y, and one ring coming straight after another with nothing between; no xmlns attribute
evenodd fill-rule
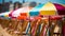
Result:
<svg viewBox="0 0 65 36"><path fill-rule="evenodd" d="M12 13L12 16L13 17L18 17L21 15L21 13L27 13L27 15L28 15L29 14L29 11L30 11L30 7L21 7L18 10L14 11Z"/></svg>

